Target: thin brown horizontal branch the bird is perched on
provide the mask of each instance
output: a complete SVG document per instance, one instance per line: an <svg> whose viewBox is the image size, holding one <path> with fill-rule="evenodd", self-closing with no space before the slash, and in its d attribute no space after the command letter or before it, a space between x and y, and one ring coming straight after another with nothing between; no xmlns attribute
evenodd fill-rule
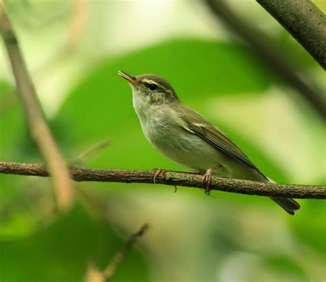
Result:
<svg viewBox="0 0 326 282"><path fill-rule="evenodd" d="M72 179L77 182L124 182L153 183L156 169L151 171L124 171L118 169L86 169L71 167ZM14 175L34 175L47 177L47 168L41 164L22 164L16 162L0 162L0 173ZM157 184L202 188L202 175L181 172L169 172L155 180ZM274 184L249 180L233 180L212 177L211 190L259 195L268 197L293 197L297 199L326 199L326 186Z"/></svg>

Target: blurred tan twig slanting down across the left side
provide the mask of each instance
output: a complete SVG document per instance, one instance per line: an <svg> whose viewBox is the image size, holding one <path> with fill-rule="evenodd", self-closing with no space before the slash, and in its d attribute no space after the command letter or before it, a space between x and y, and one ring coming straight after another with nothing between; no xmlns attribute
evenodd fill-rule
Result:
<svg viewBox="0 0 326 282"><path fill-rule="evenodd" d="M0 32L6 45L12 72L16 80L17 91L23 104L28 127L32 137L39 147L51 175L56 189L56 199L60 210L67 210L72 206L73 186L70 181L67 164L61 156L52 133L47 126L41 104L36 96L35 87L23 60L17 36L0 1Z"/></svg>

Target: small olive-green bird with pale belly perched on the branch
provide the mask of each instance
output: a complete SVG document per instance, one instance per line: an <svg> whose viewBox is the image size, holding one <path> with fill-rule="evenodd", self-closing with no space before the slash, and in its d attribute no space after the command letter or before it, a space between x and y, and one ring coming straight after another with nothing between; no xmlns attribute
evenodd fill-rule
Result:
<svg viewBox="0 0 326 282"><path fill-rule="evenodd" d="M164 78L155 74L131 76L122 71L118 74L131 85L133 108L146 139L166 158L202 173L207 191L211 175L272 182L226 133L184 105ZM294 199L271 199L290 215L301 208Z"/></svg>

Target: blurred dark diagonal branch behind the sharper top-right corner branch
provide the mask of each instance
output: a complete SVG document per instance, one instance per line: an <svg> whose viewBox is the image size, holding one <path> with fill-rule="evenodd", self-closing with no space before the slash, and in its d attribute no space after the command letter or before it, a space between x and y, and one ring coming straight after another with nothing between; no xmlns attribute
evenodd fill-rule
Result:
<svg viewBox="0 0 326 282"><path fill-rule="evenodd" d="M274 41L259 28L241 19L239 14L228 7L226 1L206 0L206 3L218 19L221 19L228 28L246 41L266 65L274 69L279 78L296 89L298 94L301 94L316 112L326 119L325 95L323 89L318 87L316 82L312 83L313 78L308 78L307 74L304 77L298 74L293 67L295 63L290 61L280 48L276 47Z"/></svg>

